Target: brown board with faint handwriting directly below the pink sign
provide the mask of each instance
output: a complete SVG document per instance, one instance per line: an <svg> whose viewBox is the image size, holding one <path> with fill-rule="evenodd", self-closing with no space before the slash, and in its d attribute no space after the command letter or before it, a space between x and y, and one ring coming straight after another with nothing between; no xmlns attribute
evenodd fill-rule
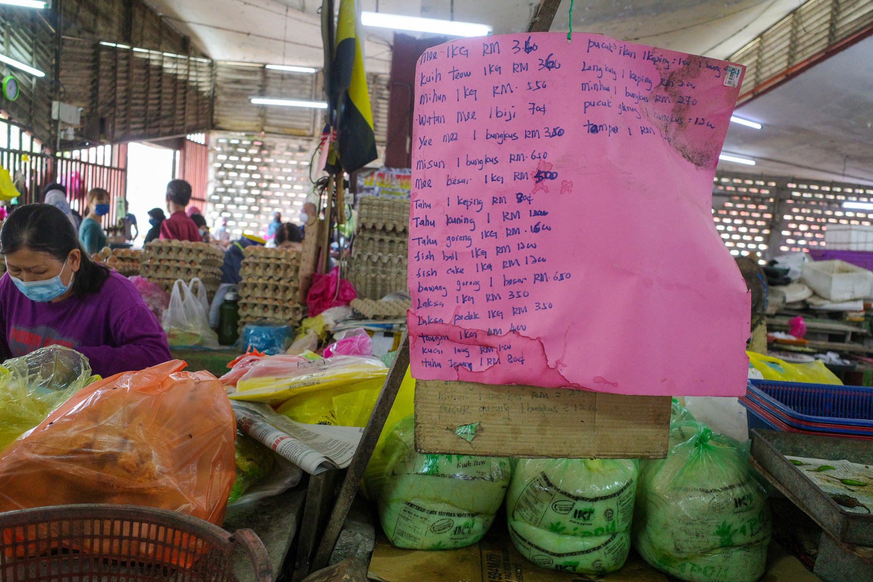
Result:
<svg viewBox="0 0 873 582"><path fill-rule="evenodd" d="M476 426L470 441L455 431ZM491 457L663 458L669 396L416 380L416 451Z"/></svg>

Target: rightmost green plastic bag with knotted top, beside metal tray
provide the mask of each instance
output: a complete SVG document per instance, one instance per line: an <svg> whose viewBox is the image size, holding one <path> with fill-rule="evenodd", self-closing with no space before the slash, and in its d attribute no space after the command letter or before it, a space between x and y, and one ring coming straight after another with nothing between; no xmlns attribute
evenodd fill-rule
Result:
<svg viewBox="0 0 873 582"><path fill-rule="evenodd" d="M642 461L633 542L650 565L694 582L754 582L770 514L748 451L707 426L672 425L666 459Z"/></svg>

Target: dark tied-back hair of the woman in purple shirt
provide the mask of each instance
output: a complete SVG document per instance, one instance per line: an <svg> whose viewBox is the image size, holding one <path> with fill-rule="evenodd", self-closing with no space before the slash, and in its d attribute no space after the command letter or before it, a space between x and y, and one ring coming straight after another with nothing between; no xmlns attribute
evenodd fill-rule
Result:
<svg viewBox="0 0 873 582"><path fill-rule="evenodd" d="M74 295L97 293L109 278L109 269L91 260L79 244L70 219L52 204L24 204L6 218L0 230L0 253L16 253L22 248L49 253L61 262L78 248L82 260L72 281Z"/></svg>

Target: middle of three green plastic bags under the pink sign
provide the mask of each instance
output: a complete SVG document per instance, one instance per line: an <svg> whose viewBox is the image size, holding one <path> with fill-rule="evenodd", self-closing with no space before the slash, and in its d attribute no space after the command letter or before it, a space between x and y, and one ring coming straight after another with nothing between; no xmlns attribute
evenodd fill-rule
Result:
<svg viewBox="0 0 873 582"><path fill-rule="evenodd" d="M637 461L522 459L506 517L515 547L544 568L614 572L630 550Z"/></svg>

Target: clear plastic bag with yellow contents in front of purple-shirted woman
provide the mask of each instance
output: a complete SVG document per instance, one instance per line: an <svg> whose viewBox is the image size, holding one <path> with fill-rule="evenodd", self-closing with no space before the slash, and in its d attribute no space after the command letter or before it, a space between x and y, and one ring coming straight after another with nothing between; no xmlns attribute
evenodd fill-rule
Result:
<svg viewBox="0 0 873 582"><path fill-rule="evenodd" d="M78 351L50 345L0 367L0 448L45 420L88 385L91 366Z"/></svg>

